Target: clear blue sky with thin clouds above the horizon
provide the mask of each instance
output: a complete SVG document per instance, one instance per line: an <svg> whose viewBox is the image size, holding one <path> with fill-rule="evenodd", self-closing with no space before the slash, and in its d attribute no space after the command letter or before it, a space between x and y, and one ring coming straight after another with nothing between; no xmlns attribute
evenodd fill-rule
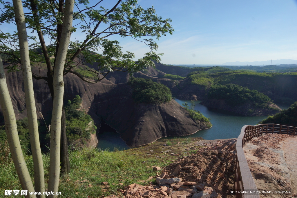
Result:
<svg viewBox="0 0 297 198"><path fill-rule="evenodd" d="M103 2L105 8L110 2ZM93 4L93 2L90 0ZM140 0L171 18L173 35L157 41L164 64L223 64L234 61L297 60L297 0ZM109 5L109 6L108 6ZM5 24L0 29L12 29ZM83 40L78 31L72 40ZM149 48L114 37L123 51L143 57Z"/></svg>

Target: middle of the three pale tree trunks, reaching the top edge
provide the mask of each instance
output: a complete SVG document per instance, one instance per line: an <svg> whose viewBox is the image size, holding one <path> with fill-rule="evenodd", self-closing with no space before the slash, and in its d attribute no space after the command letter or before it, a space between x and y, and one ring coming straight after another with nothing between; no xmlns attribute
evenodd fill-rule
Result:
<svg viewBox="0 0 297 198"><path fill-rule="evenodd" d="M42 155L39 142L38 124L35 97L33 91L33 81L30 66L29 47L27 40L25 15L23 12L23 5L21 0L13 0L13 7L15 12L15 22L18 28L18 39L20 46L20 60L23 70L24 87L26 96L26 108L29 123L29 134L31 142L31 151L34 163L34 181L35 191L44 192L44 170ZM45 198L45 195L37 195L38 198Z"/></svg>

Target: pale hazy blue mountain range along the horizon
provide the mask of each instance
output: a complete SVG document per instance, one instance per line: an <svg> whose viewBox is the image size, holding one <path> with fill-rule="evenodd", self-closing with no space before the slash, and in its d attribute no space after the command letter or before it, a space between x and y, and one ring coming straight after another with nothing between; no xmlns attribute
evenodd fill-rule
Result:
<svg viewBox="0 0 297 198"><path fill-rule="evenodd" d="M174 66L187 66L187 67L199 67L199 66L265 66L265 65L279 65L279 66L288 66L297 64L297 60L292 59L279 59L279 60L268 60L268 61L253 61L253 62L226 62L223 64L172 64Z"/></svg>

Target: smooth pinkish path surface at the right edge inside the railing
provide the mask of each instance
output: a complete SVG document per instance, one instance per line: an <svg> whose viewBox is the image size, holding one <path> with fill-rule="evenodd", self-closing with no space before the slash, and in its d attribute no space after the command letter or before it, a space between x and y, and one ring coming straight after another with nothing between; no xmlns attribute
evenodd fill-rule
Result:
<svg viewBox="0 0 297 198"><path fill-rule="evenodd" d="M283 151L285 161L287 163L290 178L291 188L293 193L297 193L297 137L289 137L283 143Z"/></svg>

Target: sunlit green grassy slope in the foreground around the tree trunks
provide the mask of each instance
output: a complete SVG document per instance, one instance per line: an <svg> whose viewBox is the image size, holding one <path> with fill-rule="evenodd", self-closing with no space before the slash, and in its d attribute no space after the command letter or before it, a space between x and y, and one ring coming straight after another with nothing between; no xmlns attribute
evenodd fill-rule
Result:
<svg viewBox="0 0 297 198"><path fill-rule="evenodd" d="M156 142L132 148L125 151L98 151L96 149L84 149L69 153L71 171L69 175L61 176L59 197L87 197L90 198L115 194L116 189L123 188L132 183L146 185L154 179L149 179L156 175L152 166L165 167L176 160L178 155L188 155L196 153L198 147L185 150L190 147L190 142L200 140L200 138L178 137L172 139L160 139ZM180 142L180 143L177 143ZM166 144L166 146L164 146ZM1 154L7 149L0 145L0 189L21 189L14 165L9 158L1 158ZM162 153L166 150L169 153ZM150 151L154 150L154 151ZM176 153L178 155L171 155ZM149 155L150 154L150 155ZM32 157L25 155L26 163L34 178ZM45 179L48 180L49 155L43 155L45 167ZM80 183L79 181L88 180ZM101 182L108 182L109 189L102 189ZM92 186L91 188L89 186ZM3 191L4 192L4 191Z"/></svg>

